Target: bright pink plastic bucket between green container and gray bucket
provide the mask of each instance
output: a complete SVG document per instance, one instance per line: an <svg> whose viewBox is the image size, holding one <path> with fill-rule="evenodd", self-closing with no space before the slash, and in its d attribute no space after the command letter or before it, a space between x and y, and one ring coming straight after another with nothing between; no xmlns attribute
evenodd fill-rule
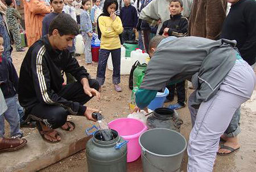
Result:
<svg viewBox="0 0 256 172"><path fill-rule="evenodd" d="M139 136L147 130L147 126L133 118L118 118L109 123L109 128L118 132L119 136L128 140L127 162L133 162L141 156Z"/></svg>

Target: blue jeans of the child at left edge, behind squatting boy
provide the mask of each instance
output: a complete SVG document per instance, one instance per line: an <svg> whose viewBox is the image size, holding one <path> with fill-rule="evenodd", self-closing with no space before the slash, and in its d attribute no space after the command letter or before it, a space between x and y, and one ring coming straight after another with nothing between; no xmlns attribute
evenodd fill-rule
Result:
<svg viewBox="0 0 256 172"><path fill-rule="evenodd" d="M5 98L7 110L0 116L0 137L5 135L5 119L10 124L11 137L23 135L19 128L18 98L16 96Z"/></svg>

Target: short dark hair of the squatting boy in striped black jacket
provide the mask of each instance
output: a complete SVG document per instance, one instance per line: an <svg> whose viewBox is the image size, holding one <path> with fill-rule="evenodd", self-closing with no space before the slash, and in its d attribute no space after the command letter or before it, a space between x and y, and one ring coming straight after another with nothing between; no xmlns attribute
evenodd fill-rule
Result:
<svg viewBox="0 0 256 172"><path fill-rule="evenodd" d="M54 29L57 29L60 36L63 35L79 35L79 25L72 19L71 15L61 13L56 16L49 25L49 36L52 35Z"/></svg>

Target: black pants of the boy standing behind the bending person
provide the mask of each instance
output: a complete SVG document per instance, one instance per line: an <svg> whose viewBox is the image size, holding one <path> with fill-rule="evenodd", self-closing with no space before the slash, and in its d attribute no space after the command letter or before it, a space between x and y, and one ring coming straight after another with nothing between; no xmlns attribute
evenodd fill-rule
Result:
<svg viewBox="0 0 256 172"><path fill-rule="evenodd" d="M177 103L184 106L185 105L185 81L182 81L180 83L177 84L173 84L173 85L168 85L167 86L168 90L169 90L169 94L167 96L167 98L169 100L174 100L174 93L175 93L175 88L177 91Z"/></svg>

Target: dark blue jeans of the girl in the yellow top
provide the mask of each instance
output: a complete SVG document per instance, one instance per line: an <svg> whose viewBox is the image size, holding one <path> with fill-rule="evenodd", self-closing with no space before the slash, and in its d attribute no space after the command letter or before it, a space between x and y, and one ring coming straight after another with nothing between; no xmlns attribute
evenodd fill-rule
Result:
<svg viewBox="0 0 256 172"><path fill-rule="evenodd" d="M98 57L98 69L97 69L97 81L100 85L104 84L105 73L106 73L106 64L108 62L109 54L112 56L113 63L113 75L112 82L117 85L121 81L120 76L120 66L121 66L121 48L114 50L100 49L100 54Z"/></svg>

